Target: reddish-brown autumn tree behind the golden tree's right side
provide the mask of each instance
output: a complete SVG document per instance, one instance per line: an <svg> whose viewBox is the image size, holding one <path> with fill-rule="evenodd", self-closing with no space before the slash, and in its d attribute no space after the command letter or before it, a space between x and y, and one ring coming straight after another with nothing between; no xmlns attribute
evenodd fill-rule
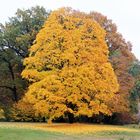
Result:
<svg viewBox="0 0 140 140"><path fill-rule="evenodd" d="M120 85L119 91L110 105L113 106L114 112L128 112L130 109L130 91L135 81L134 77L129 73L130 66L136 60L134 54L131 52L132 45L130 42L126 42L123 36L118 33L117 26L112 20L97 12L91 12L90 16L106 31L109 59Z"/></svg>

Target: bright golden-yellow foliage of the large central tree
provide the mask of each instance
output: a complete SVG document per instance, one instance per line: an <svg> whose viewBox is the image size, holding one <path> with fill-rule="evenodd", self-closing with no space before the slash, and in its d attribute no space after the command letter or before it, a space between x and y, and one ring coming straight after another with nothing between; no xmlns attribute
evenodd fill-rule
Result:
<svg viewBox="0 0 140 140"><path fill-rule="evenodd" d="M30 81L25 99L36 115L111 115L118 83L108 61L105 31L84 13L61 8L38 33L22 77Z"/></svg>

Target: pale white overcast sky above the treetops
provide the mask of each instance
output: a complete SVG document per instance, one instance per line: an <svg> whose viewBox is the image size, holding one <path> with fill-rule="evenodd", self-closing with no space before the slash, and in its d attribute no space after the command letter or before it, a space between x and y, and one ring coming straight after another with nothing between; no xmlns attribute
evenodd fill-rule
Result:
<svg viewBox="0 0 140 140"><path fill-rule="evenodd" d="M124 38L133 44L133 52L140 60L140 0L3 0L0 3L0 23L8 21L18 8L36 5L51 10L68 6L106 15L117 24Z"/></svg>

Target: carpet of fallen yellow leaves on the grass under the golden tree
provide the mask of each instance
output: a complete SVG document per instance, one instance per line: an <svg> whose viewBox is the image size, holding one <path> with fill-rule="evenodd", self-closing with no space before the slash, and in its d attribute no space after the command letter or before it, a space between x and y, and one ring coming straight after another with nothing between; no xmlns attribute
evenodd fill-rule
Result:
<svg viewBox="0 0 140 140"><path fill-rule="evenodd" d="M59 132L64 134L90 134L97 132L140 132L138 129L126 128L114 125L92 125L92 124L46 124L46 123L0 123L0 128L25 128Z"/></svg>

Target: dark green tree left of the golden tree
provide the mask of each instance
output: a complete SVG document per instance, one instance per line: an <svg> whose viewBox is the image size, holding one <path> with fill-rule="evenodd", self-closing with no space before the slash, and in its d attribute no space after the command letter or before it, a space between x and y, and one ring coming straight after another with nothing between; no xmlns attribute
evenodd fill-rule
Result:
<svg viewBox="0 0 140 140"><path fill-rule="evenodd" d="M15 17L0 25L0 102L6 110L26 89L27 83L20 75L23 58L28 56L28 49L48 15L49 12L39 6L18 9Z"/></svg>

